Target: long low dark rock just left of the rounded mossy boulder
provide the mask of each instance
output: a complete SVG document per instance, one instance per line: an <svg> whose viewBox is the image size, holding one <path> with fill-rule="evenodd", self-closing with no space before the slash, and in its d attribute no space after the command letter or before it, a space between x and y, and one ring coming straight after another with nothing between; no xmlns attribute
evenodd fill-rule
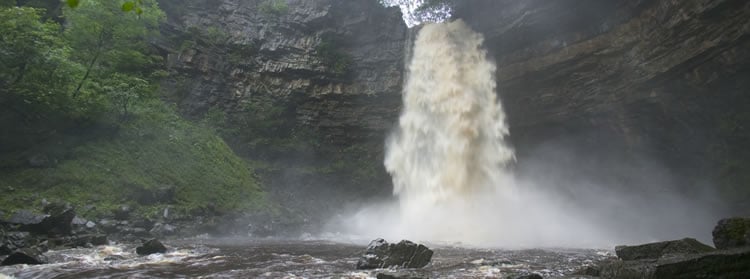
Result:
<svg viewBox="0 0 750 279"><path fill-rule="evenodd" d="M638 246L617 246L615 253L622 260L658 259L668 254L697 254L715 249L693 238L648 243Z"/></svg>

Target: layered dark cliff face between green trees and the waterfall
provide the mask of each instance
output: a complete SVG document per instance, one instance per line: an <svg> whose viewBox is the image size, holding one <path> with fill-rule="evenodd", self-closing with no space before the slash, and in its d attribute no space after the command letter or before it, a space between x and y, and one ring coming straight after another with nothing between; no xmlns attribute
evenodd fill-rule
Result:
<svg viewBox="0 0 750 279"><path fill-rule="evenodd" d="M192 118L218 120L285 206L315 214L390 191L382 150L400 109L408 31L397 8L376 0L160 4L169 19L158 43L171 69L169 98Z"/></svg>

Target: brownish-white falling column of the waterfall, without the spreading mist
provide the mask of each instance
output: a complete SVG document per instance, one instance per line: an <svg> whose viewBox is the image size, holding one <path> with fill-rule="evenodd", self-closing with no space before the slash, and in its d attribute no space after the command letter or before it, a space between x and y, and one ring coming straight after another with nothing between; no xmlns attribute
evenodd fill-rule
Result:
<svg viewBox="0 0 750 279"><path fill-rule="evenodd" d="M445 234L465 230L467 224L446 222L444 215L434 223L425 215L471 210L465 201L502 187L504 166L514 158L505 143L495 65L482 42L460 20L426 25L414 42L404 109L386 144L385 167L402 224L417 237L451 238Z"/></svg>

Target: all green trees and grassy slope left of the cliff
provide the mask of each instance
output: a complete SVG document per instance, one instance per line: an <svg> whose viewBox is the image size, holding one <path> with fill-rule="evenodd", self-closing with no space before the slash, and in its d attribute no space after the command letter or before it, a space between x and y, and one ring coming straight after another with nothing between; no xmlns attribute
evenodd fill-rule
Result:
<svg viewBox="0 0 750 279"><path fill-rule="evenodd" d="M123 203L145 215L267 209L253 170L159 100L156 1L72 2L65 28L43 9L0 7L2 210L44 198L95 206L86 216Z"/></svg>

